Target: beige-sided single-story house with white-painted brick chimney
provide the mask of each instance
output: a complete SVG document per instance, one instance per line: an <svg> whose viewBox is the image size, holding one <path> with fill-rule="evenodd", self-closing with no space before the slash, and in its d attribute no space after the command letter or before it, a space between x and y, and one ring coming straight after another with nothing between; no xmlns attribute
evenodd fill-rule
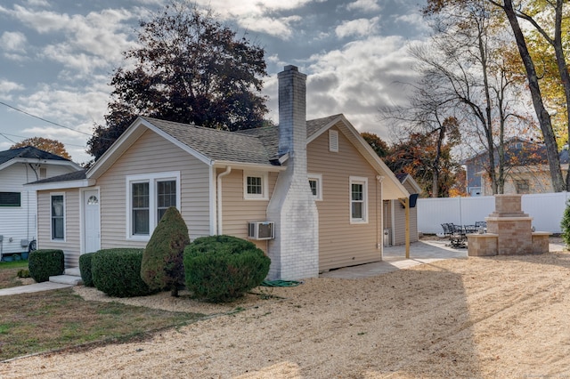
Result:
<svg viewBox="0 0 570 379"><path fill-rule="evenodd" d="M191 239L249 238L270 278L382 259L383 200L409 193L343 115L306 120L306 76L279 74L279 126L224 132L138 117L82 177L38 181L38 246L67 266L100 248L144 247L168 206ZM63 198L65 233L50 234Z"/></svg>

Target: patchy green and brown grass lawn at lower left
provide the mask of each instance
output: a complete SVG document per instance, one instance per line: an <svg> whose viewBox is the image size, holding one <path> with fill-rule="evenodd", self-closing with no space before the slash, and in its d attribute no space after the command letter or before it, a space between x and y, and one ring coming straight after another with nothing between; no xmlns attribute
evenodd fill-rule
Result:
<svg viewBox="0 0 570 379"><path fill-rule="evenodd" d="M0 263L0 288L18 286L28 262ZM195 313L152 310L119 302L86 302L71 288L0 297L0 361L85 343L142 338L203 318Z"/></svg>

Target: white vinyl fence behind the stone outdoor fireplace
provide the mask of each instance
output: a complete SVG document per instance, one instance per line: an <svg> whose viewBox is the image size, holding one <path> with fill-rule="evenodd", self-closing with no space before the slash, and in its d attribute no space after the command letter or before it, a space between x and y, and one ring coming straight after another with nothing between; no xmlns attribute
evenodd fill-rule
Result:
<svg viewBox="0 0 570 379"><path fill-rule="evenodd" d="M539 231L560 233L560 220L570 198L569 192L523 195L522 209L533 217L533 227ZM442 224L474 225L485 221L495 210L495 198L419 198L418 231L426 234L442 233Z"/></svg>

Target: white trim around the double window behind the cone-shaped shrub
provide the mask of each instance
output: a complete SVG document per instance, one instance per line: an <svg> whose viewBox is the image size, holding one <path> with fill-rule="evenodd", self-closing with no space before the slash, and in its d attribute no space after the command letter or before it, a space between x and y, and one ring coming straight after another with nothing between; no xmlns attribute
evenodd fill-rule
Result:
<svg viewBox="0 0 570 379"><path fill-rule="evenodd" d="M126 239L131 241L148 241L152 232L157 227L157 182L176 181L176 208L180 211L180 171L170 171L166 173L139 173L126 176ZM133 234L133 199L132 185L134 183L149 183L149 235Z"/></svg>

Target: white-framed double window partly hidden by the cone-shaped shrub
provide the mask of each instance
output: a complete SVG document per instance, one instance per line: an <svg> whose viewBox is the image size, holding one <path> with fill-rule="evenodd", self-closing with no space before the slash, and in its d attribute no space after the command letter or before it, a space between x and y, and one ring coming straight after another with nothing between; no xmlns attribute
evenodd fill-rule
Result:
<svg viewBox="0 0 570 379"><path fill-rule="evenodd" d="M170 206L180 208L180 172L126 177L127 238L148 239Z"/></svg>

